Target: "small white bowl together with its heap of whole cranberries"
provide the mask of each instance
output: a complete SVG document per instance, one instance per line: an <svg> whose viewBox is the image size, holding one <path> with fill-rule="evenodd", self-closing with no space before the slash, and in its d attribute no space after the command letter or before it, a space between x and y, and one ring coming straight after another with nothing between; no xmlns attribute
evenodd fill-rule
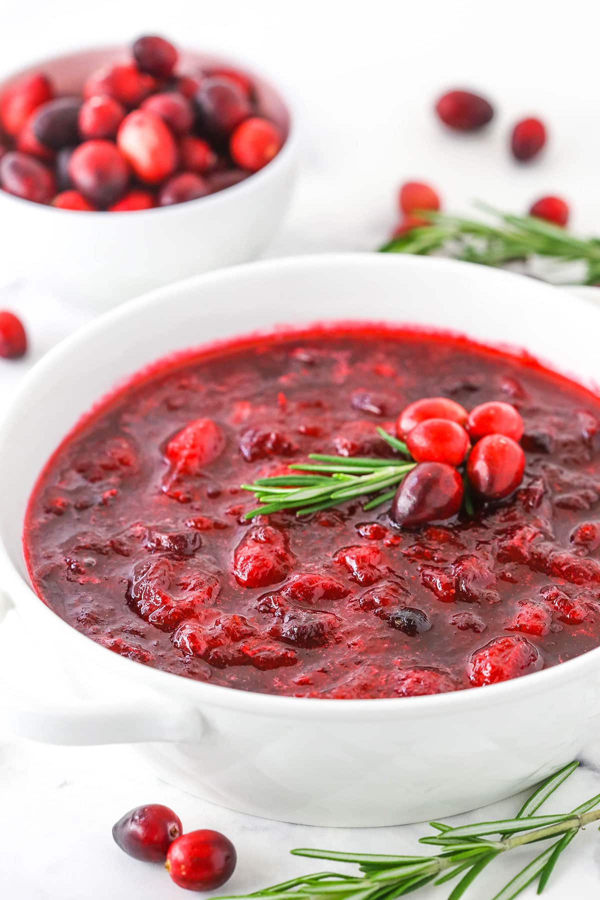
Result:
<svg viewBox="0 0 600 900"><path fill-rule="evenodd" d="M4 259L86 305L255 257L291 194L282 95L156 36L5 80L0 125Z"/></svg>

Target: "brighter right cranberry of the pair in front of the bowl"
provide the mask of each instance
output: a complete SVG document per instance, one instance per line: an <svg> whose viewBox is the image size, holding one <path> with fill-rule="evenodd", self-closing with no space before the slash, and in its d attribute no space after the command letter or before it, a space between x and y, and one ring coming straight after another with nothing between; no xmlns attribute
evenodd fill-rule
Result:
<svg viewBox="0 0 600 900"><path fill-rule="evenodd" d="M188 832L166 854L166 870L179 887L211 891L224 885L236 868L236 848L224 834Z"/></svg>

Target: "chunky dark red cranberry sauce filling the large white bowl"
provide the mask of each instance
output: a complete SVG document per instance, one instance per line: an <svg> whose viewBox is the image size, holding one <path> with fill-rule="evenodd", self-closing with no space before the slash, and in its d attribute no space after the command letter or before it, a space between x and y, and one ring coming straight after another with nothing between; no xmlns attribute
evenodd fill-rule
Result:
<svg viewBox="0 0 600 900"><path fill-rule="evenodd" d="M520 410L512 497L415 531L354 501L243 520L240 483L389 455L375 427L435 395ZM205 446L173 442L196 419ZM95 410L42 474L25 549L50 608L158 669L302 697L464 689L600 643L599 452L600 400L527 358L375 327L256 338Z"/></svg>

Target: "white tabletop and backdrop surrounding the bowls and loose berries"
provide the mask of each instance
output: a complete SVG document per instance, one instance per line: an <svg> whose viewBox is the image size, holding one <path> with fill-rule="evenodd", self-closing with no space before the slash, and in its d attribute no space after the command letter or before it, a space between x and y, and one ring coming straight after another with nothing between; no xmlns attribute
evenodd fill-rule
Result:
<svg viewBox="0 0 600 900"><path fill-rule="evenodd" d="M0 67L8 72L61 49L154 31L246 58L273 73L294 98L303 132L295 199L265 254L280 257L376 246L394 224L397 185L412 177L438 185L452 211L467 211L476 197L524 211L542 193L560 193L572 204L574 228L600 232L599 23L592 0L4 0ZM457 139L434 121L435 95L462 85L479 88L497 103L497 120L483 135ZM538 163L515 166L506 153L507 129L515 117L531 113L546 118L551 142ZM0 251L8 228L9 221L0 221ZM29 366L91 317L85 309L75 311L59 298L34 292L26 276L12 281L8 264L0 252L0 307L22 315L32 348L25 361L0 365L0 410ZM568 309L566 294L567 316ZM16 623L0 630L5 678L13 665L22 665L27 640ZM30 669L34 665L30 660ZM45 673L33 668L33 676ZM592 746L549 811L567 810L599 791L600 747ZM318 864L287 855L294 846L415 853L416 837L425 832L424 826L342 831L267 822L170 788L127 747L44 747L0 732L0 896L183 897L160 867L130 860L112 844L114 820L148 802L173 806L188 829L228 834L239 858L228 885L232 893L316 870ZM455 821L512 815L520 802L513 798ZM490 900L532 853L513 856L494 863L467 896ZM567 856L547 889L549 900L598 896L596 830L578 837ZM436 888L416 896L427 900L447 893Z"/></svg>

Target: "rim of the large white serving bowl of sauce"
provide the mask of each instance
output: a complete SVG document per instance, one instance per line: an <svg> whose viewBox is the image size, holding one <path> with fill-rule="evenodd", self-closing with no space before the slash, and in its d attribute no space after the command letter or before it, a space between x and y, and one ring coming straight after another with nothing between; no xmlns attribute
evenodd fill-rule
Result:
<svg viewBox="0 0 600 900"><path fill-rule="evenodd" d="M327 253L314 254L300 257L281 257L276 259L263 260L258 262L246 263L240 266L232 266L222 268L214 272L204 273L202 275L193 275L192 277L182 279L163 287L158 287L152 291L144 293L139 297L133 298L128 302L121 304L111 311L106 311L102 315L97 316L94 320L88 322L83 327L64 338L49 352L31 367L31 370L24 376L17 391L13 395L13 400L6 411L3 419L2 431L0 432L0 458L6 425L16 427L19 419L19 408L22 405L22 398L26 397L31 390L30 384L43 376L46 369L60 365L61 358L66 356L72 346L85 343L94 339L94 333L103 329L108 323L116 323L120 318L127 318L130 315L138 315L148 306L153 304L161 304L163 302L173 302L178 293L187 293L196 290L198 287L204 288L214 283L222 283L228 281L237 281L244 279L249 274L261 275L262 273L271 273L281 270L294 271L298 266L303 269L310 269L318 272L319 269L326 269L330 266L396 266L401 272L404 268L422 269L423 267L434 267L441 275L444 272L452 272L457 267L461 270L465 266L469 267L473 272L473 277L477 281L478 278L492 281L496 279L502 282L506 290L510 290L511 284L516 284L515 280L520 284L527 284L528 290L532 293L555 293L557 288L551 284L543 284L533 281L524 275L517 275L512 272L506 272L499 269L487 269L483 266L473 266L470 263L461 262L453 259L445 259L440 257L415 257L405 255L383 254L379 255L372 252L363 253ZM569 298L569 309L577 311L577 307L587 314L598 316L600 324L600 308L593 307L589 302L577 295ZM329 320L335 321L335 320ZM273 328L276 327L273 324ZM20 523L22 529L22 523ZM244 713L260 713L265 716L277 716L284 718L301 718L308 720L331 719L346 720L355 719L357 717L366 717L367 720L387 718L390 714L393 716L405 715L422 718L424 716L449 716L460 712L474 712L481 706L488 707L489 702L493 701L501 707L515 702L517 691L521 698L531 697L544 689L551 687L558 681L570 681L578 679L583 671L589 670L590 667L596 666L596 671L600 671L600 645L596 648L581 653L566 662L560 662L548 669L535 671L530 674L521 676L516 679L498 682L496 684L487 685L484 688L469 688L455 691L448 691L443 694L431 694L420 697L404 697L404 698L362 698L362 699L334 699L334 698L307 698L293 697L276 694L266 694L257 691L246 691L241 689L229 688L224 685L211 684L210 681L198 681L187 679L184 676L176 675L146 666L142 663L130 660L118 653L113 653L102 644L98 644L92 638L87 637L79 632L73 626L69 625L64 619L58 616L58 613L49 608L43 600L32 589L31 584L26 576L18 571L13 563L7 548L4 545L4 539L0 533L0 572L6 574L9 586L6 588L11 599L14 600L18 610L21 604L27 604L33 615L46 616L46 623L51 627L62 629L62 634L66 640L78 641L79 649L85 652L85 647L91 653L97 654L100 665L104 668L111 668L116 674L121 673L121 677L128 677L135 680L143 680L151 684L153 688L162 689L162 692L169 694L178 694L180 697L185 695L191 699L195 705L206 707L220 707L222 709L235 710ZM1 585L4 588L4 584ZM19 595L15 599L15 595ZM85 642L85 644L84 644ZM129 673L129 675L128 675ZM404 713L401 711L404 710Z"/></svg>

